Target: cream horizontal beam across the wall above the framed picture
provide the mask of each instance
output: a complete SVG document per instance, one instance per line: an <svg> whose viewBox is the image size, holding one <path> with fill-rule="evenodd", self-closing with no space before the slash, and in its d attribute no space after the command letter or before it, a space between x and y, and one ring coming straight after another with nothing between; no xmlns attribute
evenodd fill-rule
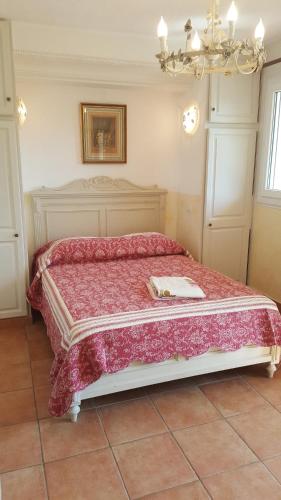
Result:
<svg viewBox="0 0 281 500"><path fill-rule="evenodd" d="M14 51L17 80L41 80L72 85L106 87L161 87L182 92L192 82L186 76L171 78L153 62L125 61L88 56Z"/></svg>

